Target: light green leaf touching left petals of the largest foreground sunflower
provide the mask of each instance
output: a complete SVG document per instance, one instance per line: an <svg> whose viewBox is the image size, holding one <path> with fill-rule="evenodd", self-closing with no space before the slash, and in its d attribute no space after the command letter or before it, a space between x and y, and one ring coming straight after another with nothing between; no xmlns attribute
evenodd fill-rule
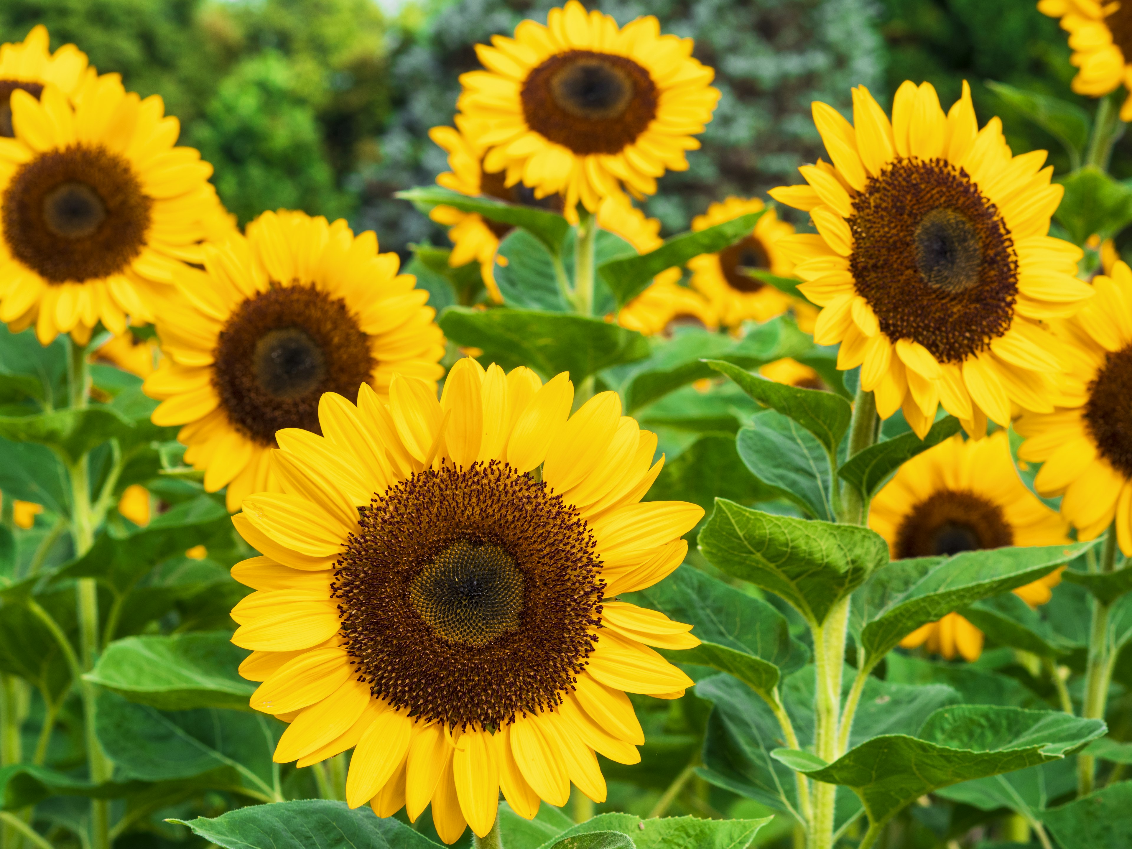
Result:
<svg viewBox="0 0 1132 849"><path fill-rule="evenodd" d="M86 680L131 702L166 711L194 707L250 710L256 684L237 668L248 652L225 632L136 636L106 646Z"/></svg>

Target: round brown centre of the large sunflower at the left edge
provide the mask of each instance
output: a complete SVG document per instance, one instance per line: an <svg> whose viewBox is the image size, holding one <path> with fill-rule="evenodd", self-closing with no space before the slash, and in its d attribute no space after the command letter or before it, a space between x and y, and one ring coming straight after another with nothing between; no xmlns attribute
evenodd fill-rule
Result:
<svg viewBox="0 0 1132 849"><path fill-rule="evenodd" d="M123 272L145 247L153 201L130 164L70 145L16 169L0 200L12 256L49 283Z"/></svg>

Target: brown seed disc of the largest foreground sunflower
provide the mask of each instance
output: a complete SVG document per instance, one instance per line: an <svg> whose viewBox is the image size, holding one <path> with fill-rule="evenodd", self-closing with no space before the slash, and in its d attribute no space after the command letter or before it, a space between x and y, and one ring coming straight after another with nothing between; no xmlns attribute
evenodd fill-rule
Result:
<svg viewBox="0 0 1132 849"><path fill-rule="evenodd" d="M600 563L577 511L491 461L375 496L334 573L341 634L376 696L498 728L560 703L593 650Z"/></svg>

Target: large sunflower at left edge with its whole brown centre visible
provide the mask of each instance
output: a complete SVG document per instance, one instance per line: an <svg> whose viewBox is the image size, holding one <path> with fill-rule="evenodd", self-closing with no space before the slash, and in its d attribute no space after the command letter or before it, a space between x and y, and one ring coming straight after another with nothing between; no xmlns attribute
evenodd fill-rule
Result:
<svg viewBox="0 0 1132 849"><path fill-rule="evenodd" d="M14 137L0 139L0 320L35 324L40 342L89 341L101 320L153 320L215 216L212 166L173 147L175 118L117 75L89 80L78 105L53 83L11 91Z"/></svg>

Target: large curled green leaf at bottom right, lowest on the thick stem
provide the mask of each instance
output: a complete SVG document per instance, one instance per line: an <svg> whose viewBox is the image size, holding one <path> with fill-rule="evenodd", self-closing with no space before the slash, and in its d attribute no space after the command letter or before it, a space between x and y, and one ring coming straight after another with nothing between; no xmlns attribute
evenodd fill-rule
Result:
<svg viewBox="0 0 1132 849"><path fill-rule="evenodd" d="M852 788L880 824L942 787L1056 761L1104 732L1103 721L1061 711L963 704L933 713L917 737L874 737L831 764L796 765L816 781Z"/></svg>

